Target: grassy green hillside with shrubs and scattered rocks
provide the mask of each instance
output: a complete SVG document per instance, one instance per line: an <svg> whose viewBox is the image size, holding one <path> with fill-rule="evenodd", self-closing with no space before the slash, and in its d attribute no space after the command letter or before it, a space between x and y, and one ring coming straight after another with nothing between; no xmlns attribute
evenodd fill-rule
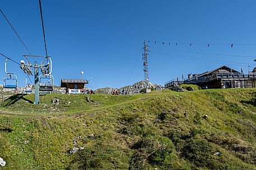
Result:
<svg viewBox="0 0 256 170"><path fill-rule="evenodd" d="M0 103L0 169L256 169L256 89L32 100Z"/></svg>

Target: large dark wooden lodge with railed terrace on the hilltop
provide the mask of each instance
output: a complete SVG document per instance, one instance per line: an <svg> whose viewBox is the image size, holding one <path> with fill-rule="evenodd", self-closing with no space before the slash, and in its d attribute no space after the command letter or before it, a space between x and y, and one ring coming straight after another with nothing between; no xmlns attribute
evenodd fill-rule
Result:
<svg viewBox="0 0 256 170"><path fill-rule="evenodd" d="M175 84L194 84L205 89L255 88L255 80L256 72L243 74L224 65L202 74L189 74L188 79L168 81L165 88L171 88Z"/></svg>

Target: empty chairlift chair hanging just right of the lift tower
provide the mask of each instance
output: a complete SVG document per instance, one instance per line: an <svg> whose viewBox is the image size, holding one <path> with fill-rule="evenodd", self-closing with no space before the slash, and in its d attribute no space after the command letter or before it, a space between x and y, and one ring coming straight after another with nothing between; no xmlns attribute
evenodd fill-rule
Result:
<svg viewBox="0 0 256 170"><path fill-rule="evenodd" d="M39 76L39 91L53 91L53 76L40 75Z"/></svg>

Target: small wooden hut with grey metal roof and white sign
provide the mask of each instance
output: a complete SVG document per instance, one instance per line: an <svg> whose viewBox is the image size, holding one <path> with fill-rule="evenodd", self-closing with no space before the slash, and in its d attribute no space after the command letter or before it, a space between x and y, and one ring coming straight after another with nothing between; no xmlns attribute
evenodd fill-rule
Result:
<svg viewBox="0 0 256 170"><path fill-rule="evenodd" d="M66 93L84 93L87 80L80 79L61 79L60 88L66 88Z"/></svg>

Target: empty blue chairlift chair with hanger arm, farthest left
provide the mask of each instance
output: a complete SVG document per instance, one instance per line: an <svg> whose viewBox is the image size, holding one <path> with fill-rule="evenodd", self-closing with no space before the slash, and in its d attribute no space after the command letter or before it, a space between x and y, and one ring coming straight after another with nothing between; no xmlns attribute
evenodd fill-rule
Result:
<svg viewBox="0 0 256 170"><path fill-rule="evenodd" d="M17 89L17 76L7 72L7 61L8 59L6 58L6 61L4 62L4 71L6 72L6 74L3 76L3 88Z"/></svg>

